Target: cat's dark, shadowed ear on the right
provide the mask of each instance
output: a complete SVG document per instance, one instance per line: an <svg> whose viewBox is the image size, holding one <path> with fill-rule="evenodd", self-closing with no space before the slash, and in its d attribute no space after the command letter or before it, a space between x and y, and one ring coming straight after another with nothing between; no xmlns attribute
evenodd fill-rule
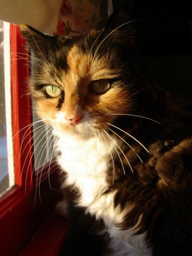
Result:
<svg viewBox="0 0 192 256"><path fill-rule="evenodd" d="M130 17L130 8L127 5L123 5L115 12L111 14L108 18L106 25L104 27L104 31L112 32L114 31L114 36L129 34L135 35L135 30L133 28L133 23L136 20L132 20Z"/></svg>

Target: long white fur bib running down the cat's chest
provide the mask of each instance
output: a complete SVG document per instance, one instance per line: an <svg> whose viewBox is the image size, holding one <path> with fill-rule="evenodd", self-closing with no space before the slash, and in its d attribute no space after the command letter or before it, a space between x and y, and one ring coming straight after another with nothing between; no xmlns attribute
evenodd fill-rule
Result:
<svg viewBox="0 0 192 256"><path fill-rule="evenodd" d="M57 146L61 151L58 162L68 174L66 183L75 184L81 192L78 205L87 207L97 218L103 218L108 231L114 237L111 247L120 253L117 255L150 255L150 249L145 246L144 234L132 237L133 230L122 231L115 225L123 220L125 212L131 210L132 204L127 203L123 212L119 207L114 209L116 191L103 195L107 188L106 169L111 155L115 153L114 141L101 141L98 137L83 140L64 135L58 140Z"/></svg>

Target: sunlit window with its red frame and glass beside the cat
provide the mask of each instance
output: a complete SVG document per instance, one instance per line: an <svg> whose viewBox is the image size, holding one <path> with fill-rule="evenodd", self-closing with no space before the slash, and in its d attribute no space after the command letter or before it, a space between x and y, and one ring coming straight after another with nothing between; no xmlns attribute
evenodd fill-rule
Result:
<svg viewBox="0 0 192 256"><path fill-rule="evenodd" d="M30 53L26 50L26 42L17 26L3 22L0 26L1 53L3 51L4 56L0 67L0 184L4 192L0 196L0 244L1 255L17 255L53 211L57 190L50 189L50 181L52 188L58 187L55 172L57 168L54 161L44 164L44 159L36 166L39 167L38 172L33 172L34 117L28 94ZM9 86L5 86L4 81ZM53 158L52 151L49 150L53 143L45 151L48 159ZM41 165L44 165L43 168L40 168Z"/></svg>

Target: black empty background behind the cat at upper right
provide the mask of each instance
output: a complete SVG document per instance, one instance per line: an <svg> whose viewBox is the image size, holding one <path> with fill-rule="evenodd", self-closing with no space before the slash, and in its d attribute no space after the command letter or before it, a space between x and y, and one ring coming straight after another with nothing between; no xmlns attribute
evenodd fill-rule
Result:
<svg viewBox="0 0 192 256"><path fill-rule="evenodd" d="M192 1L114 0L135 22L136 45L148 74L163 88L191 97Z"/></svg>

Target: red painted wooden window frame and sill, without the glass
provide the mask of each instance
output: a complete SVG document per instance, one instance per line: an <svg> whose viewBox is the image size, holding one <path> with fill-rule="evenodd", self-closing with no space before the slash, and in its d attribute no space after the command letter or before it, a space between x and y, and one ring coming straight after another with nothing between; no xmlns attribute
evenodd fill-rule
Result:
<svg viewBox="0 0 192 256"><path fill-rule="evenodd" d="M43 204L37 197L34 207L37 177L32 174L34 160L31 158L32 150L29 151L32 146L31 142L29 142L32 131L30 126L27 126L29 128L27 135L27 133L25 134L26 129L23 129L23 127L30 125L32 122L31 102L27 87L30 70L29 53L19 28L12 24L10 25L10 49L15 186L0 198L0 254L6 256L17 255L23 250L45 219L48 218L50 212L53 211L56 202L56 189L51 191L49 186L48 165L44 170L40 170L42 171L40 190ZM24 135L27 136L22 143ZM25 148L24 145L27 142L29 142L29 146ZM23 154L20 155L20 152L23 152ZM25 159L26 164L23 168ZM28 169L30 159L32 161ZM50 180L53 187L58 188L56 169L56 164L52 163Z"/></svg>

